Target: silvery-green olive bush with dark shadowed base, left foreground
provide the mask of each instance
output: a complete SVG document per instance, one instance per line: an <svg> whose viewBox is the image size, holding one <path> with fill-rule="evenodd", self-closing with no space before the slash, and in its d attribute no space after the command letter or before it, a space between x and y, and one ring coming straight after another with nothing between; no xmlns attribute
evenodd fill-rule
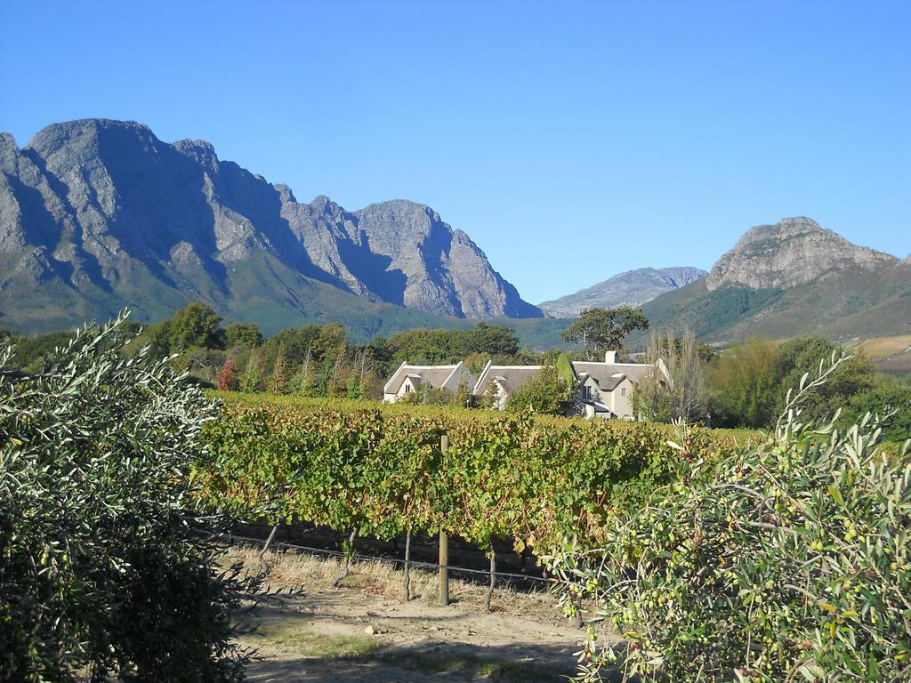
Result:
<svg viewBox="0 0 911 683"><path fill-rule="evenodd" d="M0 679L236 681L231 612L255 584L215 563L184 484L215 407L118 322L44 372L0 345Z"/></svg>

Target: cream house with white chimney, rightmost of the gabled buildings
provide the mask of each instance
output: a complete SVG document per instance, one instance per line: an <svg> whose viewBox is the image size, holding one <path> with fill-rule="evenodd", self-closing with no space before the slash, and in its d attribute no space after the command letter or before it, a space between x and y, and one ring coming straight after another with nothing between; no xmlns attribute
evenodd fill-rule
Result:
<svg viewBox="0 0 911 683"><path fill-rule="evenodd" d="M633 419L632 392L643 378L660 372L660 382L668 378L664 362L617 362L617 352L605 353L604 362L573 361L572 372L578 382L578 402L586 417Z"/></svg>

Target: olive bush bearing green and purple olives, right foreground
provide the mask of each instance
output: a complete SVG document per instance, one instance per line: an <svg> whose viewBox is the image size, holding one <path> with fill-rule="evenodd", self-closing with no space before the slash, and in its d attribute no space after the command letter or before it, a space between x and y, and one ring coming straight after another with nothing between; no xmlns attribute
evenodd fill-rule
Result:
<svg viewBox="0 0 911 683"><path fill-rule="evenodd" d="M548 558L568 611L598 605L580 679L618 660L624 680L911 678L911 442L884 454L869 415L840 432L801 407L844 362L804 377L758 448L707 463L682 426L678 483L598 551Z"/></svg>

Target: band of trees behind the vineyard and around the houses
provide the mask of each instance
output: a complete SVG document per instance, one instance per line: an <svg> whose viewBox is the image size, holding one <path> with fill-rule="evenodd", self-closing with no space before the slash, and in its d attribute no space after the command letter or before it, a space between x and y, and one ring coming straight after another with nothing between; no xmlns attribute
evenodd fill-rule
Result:
<svg viewBox="0 0 911 683"><path fill-rule="evenodd" d="M386 378L403 361L464 361L476 375L488 361L541 364L545 371L510 396L507 410L565 414L575 391L569 361L600 360L605 351L618 351L629 362L623 348L627 335L648 328L649 320L640 309L621 306L582 311L563 332L569 348L543 352L521 348L516 331L483 322L471 330L403 331L366 344L352 343L338 323L290 328L266 339L251 323L223 325L216 311L197 301L145 328L123 322L118 334L126 339L138 333L128 352L148 345L153 357L174 356L175 369L207 386L311 397L379 399ZM72 336L71 331L61 331L11 341L18 362L35 370ZM633 395L634 409L640 419L653 422L685 418L719 427L768 429L781 412L788 388L796 386L805 372L816 371L821 360L842 351L846 350L821 337L781 344L752 340L719 352L697 342L691 331L653 334L639 360L660 359L667 376L655 373L642 382ZM896 410L886 423L886 438L900 441L911 436L911 377L896 379L876 372L863 352L850 352L852 359L814 394L804 406L805 414L815 418L840 407L846 424L867 412ZM428 389L410 400L465 405L468 398L467 392L454 397ZM485 397L473 401L490 403Z"/></svg>

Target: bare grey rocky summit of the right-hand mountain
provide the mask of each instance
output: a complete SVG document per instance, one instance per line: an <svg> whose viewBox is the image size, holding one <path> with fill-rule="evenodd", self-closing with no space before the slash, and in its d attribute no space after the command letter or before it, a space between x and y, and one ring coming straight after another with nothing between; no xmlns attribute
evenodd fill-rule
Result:
<svg viewBox="0 0 911 683"><path fill-rule="evenodd" d="M788 289L829 273L876 270L897 261L890 254L858 247L813 219L783 219L748 230L712 266L705 285L709 291L729 285Z"/></svg>

